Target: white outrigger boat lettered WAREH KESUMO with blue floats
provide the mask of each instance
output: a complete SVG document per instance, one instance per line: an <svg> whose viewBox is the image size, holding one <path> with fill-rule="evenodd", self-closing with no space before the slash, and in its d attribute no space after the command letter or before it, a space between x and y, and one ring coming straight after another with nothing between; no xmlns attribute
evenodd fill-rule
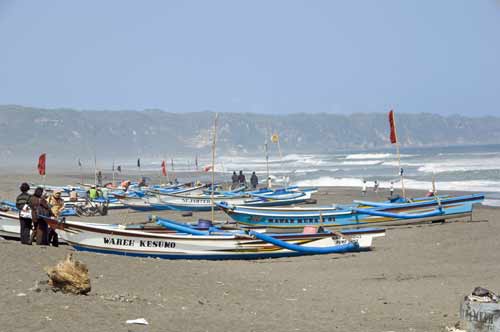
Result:
<svg viewBox="0 0 500 332"><path fill-rule="evenodd" d="M175 232L148 232L75 221L47 219L65 232L76 250L123 256L165 259L258 259L316 254L340 254L370 249L383 229L343 233L268 234L256 231L197 230L175 221L156 218L158 225Z"/></svg>

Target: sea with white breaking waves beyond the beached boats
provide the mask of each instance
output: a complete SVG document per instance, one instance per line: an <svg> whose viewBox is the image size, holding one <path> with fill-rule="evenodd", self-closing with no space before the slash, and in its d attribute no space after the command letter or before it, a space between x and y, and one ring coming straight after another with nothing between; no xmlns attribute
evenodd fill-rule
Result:
<svg viewBox="0 0 500 332"><path fill-rule="evenodd" d="M220 152L222 153L222 152ZM207 153L208 155L208 153ZM401 168L404 185L410 189L430 190L433 179L436 189L485 193L485 205L500 206L500 144L485 146L453 146L401 148ZM171 168L172 160L167 162ZM198 160L198 170L211 161ZM184 171L196 168L194 158L174 160L174 171L180 177ZM152 161L148 168L159 169L159 162ZM374 181L380 188L389 188L391 182L400 187L400 168L395 149L379 151L342 151L339 153L283 154L271 151L269 162L262 156L225 156L216 158L216 172L227 173L242 170L250 178L255 171L263 181L268 173L277 185L368 187ZM206 177L202 176L202 177Z"/></svg>

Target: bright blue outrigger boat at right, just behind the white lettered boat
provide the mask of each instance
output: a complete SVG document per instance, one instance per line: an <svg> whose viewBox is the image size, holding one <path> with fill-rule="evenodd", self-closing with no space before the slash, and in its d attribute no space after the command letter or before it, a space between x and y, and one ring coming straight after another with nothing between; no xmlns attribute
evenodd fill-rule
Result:
<svg viewBox="0 0 500 332"><path fill-rule="evenodd" d="M484 194L436 196L399 202L357 202L346 206L265 208L217 205L240 225L293 229L308 225L366 227L373 224L400 225L469 217Z"/></svg>

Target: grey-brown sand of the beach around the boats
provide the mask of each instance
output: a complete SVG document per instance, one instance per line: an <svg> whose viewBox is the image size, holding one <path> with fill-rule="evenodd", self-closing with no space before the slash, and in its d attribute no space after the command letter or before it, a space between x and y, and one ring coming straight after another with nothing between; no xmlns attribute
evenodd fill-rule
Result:
<svg viewBox="0 0 500 332"><path fill-rule="evenodd" d="M2 177L2 198L13 199L26 178L10 174ZM367 199L386 195L370 192ZM322 188L315 198L348 203L360 192ZM459 320L460 301L475 286L499 288L499 211L480 206L473 222L390 229L372 251L345 255L212 262L75 252L91 274L88 296L30 290L70 247L0 241L0 331L443 331ZM189 221L208 214L161 215ZM125 216L133 222L147 214L85 220ZM140 317L150 325L125 324Z"/></svg>

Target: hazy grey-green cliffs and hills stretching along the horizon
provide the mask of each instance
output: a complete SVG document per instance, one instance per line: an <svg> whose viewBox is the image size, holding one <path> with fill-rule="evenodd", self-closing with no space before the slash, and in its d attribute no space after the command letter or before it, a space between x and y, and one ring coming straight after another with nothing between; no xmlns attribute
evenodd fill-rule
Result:
<svg viewBox="0 0 500 332"><path fill-rule="evenodd" d="M208 154L214 113L77 111L0 106L0 157L32 160L47 152L73 161L118 157ZM500 118L397 114L403 146L475 145L500 142ZM336 152L389 147L386 113L263 115L222 113L218 153L262 153L266 131L277 132L285 153Z"/></svg>

